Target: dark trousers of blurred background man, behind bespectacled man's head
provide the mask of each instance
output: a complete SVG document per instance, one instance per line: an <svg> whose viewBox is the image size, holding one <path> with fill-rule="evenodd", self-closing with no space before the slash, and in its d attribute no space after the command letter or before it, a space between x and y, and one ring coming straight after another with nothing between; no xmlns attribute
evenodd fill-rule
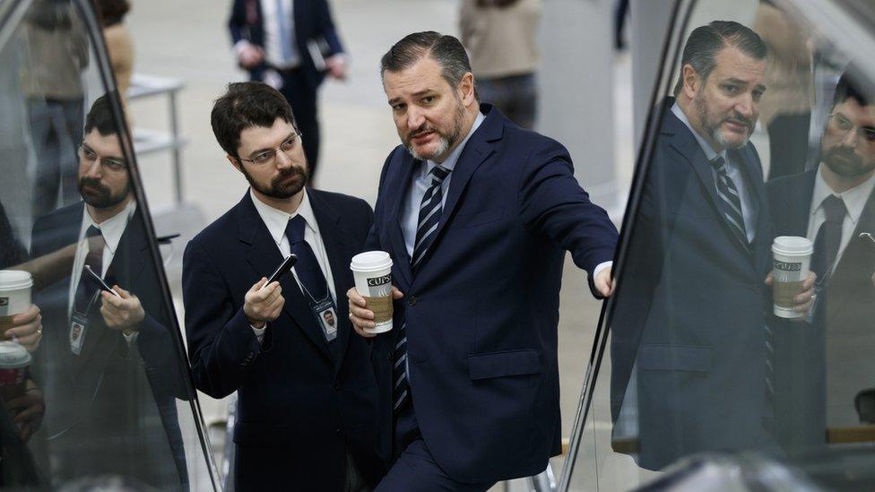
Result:
<svg viewBox="0 0 875 492"><path fill-rule="evenodd" d="M291 105L295 122L301 133L301 143L310 166L310 178L316 177L316 166L319 162L319 122L316 118L316 91L318 88L308 81L300 69L281 72L282 95Z"/></svg>

